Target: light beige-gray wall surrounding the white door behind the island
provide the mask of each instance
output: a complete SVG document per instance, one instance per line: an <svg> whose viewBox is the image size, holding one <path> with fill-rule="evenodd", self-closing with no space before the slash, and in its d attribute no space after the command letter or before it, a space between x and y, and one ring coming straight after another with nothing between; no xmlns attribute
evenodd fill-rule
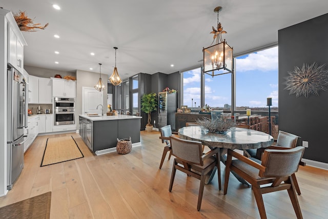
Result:
<svg viewBox="0 0 328 219"><path fill-rule="evenodd" d="M101 74L101 78L103 79L103 82L106 84L106 80L108 78L107 74ZM94 87L96 83L99 80L99 74L93 73L89 71L82 71L82 70L76 70L76 129L78 130L78 115L83 114L82 113L82 87ZM106 84L107 85L107 84ZM104 113L107 112L107 87L103 91L104 94L104 100L103 100L103 106L104 106Z"/></svg>

